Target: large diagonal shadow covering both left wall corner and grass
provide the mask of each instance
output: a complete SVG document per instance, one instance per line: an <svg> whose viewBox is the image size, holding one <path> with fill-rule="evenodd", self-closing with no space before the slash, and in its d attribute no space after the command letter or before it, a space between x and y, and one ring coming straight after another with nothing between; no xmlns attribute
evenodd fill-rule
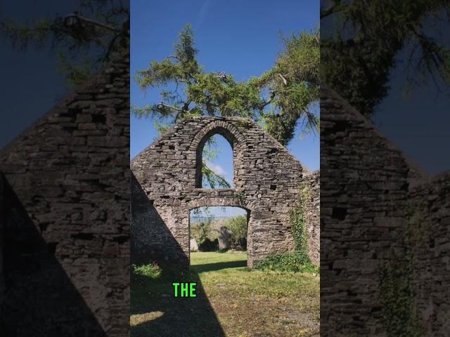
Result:
<svg viewBox="0 0 450 337"><path fill-rule="evenodd" d="M155 261L162 268L162 275L152 279L131 273L130 336L224 337L198 270L186 270L188 256L134 176L131 176L131 196L132 263ZM141 230L147 233L149 225L152 236L143 242L144 246L139 246ZM165 262L166 257L169 262ZM174 298L173 282L197 282L197 297Z"/></svg>

